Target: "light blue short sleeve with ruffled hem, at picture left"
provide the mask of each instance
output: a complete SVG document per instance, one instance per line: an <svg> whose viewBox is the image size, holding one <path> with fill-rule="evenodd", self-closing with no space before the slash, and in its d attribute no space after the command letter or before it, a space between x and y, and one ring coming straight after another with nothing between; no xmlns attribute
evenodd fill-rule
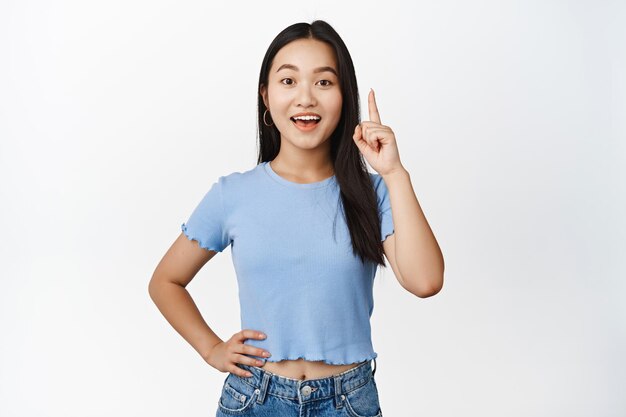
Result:
<svg viewBox="0 0 626 417"><path fill-rule="evenodd" d="M181 230L201 248L222 252L230 243L225 228L222 177L204 195Z"/></svg>

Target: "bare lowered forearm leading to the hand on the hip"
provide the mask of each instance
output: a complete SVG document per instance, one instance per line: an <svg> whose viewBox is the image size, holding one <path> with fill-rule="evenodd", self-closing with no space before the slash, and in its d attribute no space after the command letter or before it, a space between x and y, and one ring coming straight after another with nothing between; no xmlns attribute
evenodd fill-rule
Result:
<svg viewBox="0 0 626 417"><path fill-rule="evenodd" d="M223 342L202 318L189 291L167 282L150 284L150 298L170 325L206 360L211 348Z"/></svg>

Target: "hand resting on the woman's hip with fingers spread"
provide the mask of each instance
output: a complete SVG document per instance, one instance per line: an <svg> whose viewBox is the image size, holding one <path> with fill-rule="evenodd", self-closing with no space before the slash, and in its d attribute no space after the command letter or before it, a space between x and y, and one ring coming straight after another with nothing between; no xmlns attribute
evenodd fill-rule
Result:
<svg viewBox="0 0 626 417"><path fill-rule="evenodd" d="M243 354L245 353L258 357L268 357L270 355L265 349L244 344L243 342L246 339L263 340L265 337L261 337L261 333L256 330L245 329L237 332L226 342L220 342L213 346L205 359L206 362L221 372L230 372L244 378L252 376L245 369L238 367L236 363L243 363L250 366L261 366L263 365L263 362ZM267 356L264 355L265 352L268 353Z"/></svg>

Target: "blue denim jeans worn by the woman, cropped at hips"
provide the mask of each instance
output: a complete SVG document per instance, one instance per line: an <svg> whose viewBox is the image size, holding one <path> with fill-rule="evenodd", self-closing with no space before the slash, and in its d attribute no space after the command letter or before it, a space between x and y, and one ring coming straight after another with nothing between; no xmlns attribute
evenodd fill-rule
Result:
<svg viewBox="0 0 626 417"><path fill-rule="evenodd" d="M374 381L376 359L319 379L292 379L238 363L252 373L228 373L216 417L382 417Z"/></svg>

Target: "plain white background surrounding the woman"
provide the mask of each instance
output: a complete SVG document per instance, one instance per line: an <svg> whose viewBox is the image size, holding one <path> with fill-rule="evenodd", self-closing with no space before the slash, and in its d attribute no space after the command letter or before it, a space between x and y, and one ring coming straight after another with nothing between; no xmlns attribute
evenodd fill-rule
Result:
<svg viewBox="0 0 626 417"><path fill-rule="evenodd" d="M0 2L0 415L211 416L226 374L147 285L220 175L254 166L261 60L324 19L446 262L380 270L392 416L626 414L622 1ZM189 285L239 331L230 249Z"/></svg>

